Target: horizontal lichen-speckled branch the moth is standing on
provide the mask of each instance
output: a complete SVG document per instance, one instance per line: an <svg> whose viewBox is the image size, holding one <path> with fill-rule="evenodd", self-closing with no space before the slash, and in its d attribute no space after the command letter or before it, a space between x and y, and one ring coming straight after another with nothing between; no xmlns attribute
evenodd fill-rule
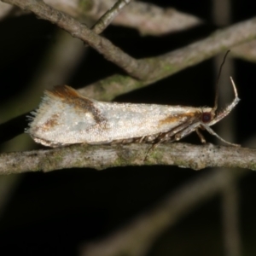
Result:
<svg viewBox="0 0 256 256"><path fill-rule="evenodd" d="M113 166L169 165L201 170L206 167L240 167L256 170L256 149L160 144L144 161L148 144L72 145L61 148L0 154L0 174L50 172L65 168L106 169Z"/></svg>

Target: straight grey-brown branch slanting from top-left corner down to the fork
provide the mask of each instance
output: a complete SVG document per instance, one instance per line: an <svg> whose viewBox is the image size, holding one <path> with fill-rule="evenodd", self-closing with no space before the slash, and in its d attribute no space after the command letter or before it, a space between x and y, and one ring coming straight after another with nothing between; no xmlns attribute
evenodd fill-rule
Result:
<svg viewBox="0 0 256 256"><path fill-rule="evenodd" d="M78 20L74 20L71 16L51 8L42 0L2 0L2 2L14 4L21 9L30 10L39 18L49 20L63 28L74 38L79 38L84 43L89 44L92 48L104 55L108 61L112 61L123 68L131 76L143 79L145 73L148 73L148 71L144 70L147 67L139 67L140 63L138 61L114 46L108 39L100 37ZM140 74L140 71L143 71L143 75Z"/></svg>

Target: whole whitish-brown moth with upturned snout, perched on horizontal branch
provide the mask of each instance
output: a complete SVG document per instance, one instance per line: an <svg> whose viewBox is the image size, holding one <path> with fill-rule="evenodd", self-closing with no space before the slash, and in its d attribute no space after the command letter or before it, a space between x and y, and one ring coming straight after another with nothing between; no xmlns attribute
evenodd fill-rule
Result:
<svg viewBox="0 0 256 256"><path fill-rule="evenodd" d="M218 94L213 108L156 104L99 102L62 85L46 90L38 110L32 112L26 130L36 143L60 147L75 143L165 143L178 141L200 130L218 137L210 126L218 123L240 101L236 84L230 78L235 98L218 112Z"/></svg>

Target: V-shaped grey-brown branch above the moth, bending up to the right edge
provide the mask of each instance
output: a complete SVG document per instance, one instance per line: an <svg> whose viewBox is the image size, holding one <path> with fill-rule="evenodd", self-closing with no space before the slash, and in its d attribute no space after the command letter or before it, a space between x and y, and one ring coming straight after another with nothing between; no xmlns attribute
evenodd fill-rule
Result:
<svg viewBox="0 0 256 256"><path fill-rule="evenodd" d="M89 44L132 77L148 81L148 83L166 78L185 67L193 66L223 50L256 37L256 18L253 18L215 32L209 38L190 44L183 49L177 49L174 52L154 58L135 60L114 46L108 39L100 37L79 21L50 8L42 1L3 0L3 2L15 4L22 9L29 9L40 18L55 23L70 32L73 37L80 38Z"/></svg>

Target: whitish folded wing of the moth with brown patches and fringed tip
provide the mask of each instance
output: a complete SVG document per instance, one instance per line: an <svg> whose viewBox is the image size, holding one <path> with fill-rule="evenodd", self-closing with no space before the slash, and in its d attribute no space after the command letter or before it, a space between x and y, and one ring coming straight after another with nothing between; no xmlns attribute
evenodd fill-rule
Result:
<svg viewBox="0 0 256 256"><path fill-rule="evenodd" d="M198 108L98 102L73 88L46 91L28 132L36 142L55 147L73 143L111 143L171 131L197 120Z"/></svg>

